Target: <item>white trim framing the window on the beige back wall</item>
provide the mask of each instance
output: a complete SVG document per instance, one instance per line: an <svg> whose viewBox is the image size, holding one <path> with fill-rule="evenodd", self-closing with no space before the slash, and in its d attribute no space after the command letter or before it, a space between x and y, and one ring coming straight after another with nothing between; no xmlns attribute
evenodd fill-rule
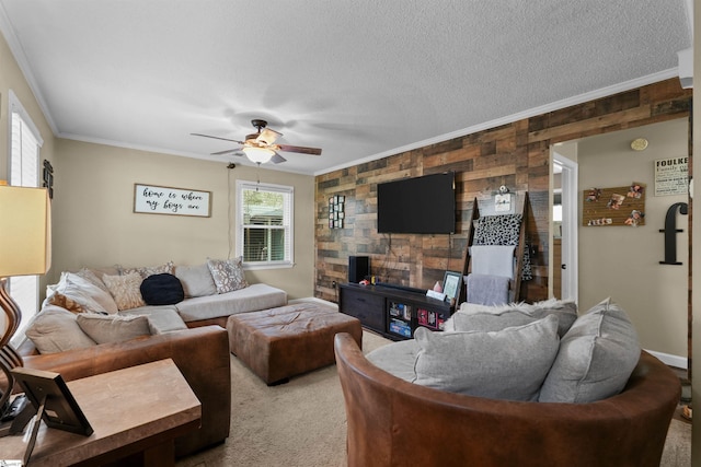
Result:
<svg viewBox="0 0 701 467"><path fill-rule="evenodd" d="M266 262L242 262L246 270L258 269L285 269L295 266L295 187L288 185L275 185L260 182L237 180L237 227L235 227L235 256L243 257L243 190L262 189L265 191L278 191L288 194L291 198L289 206L289 260Z"/></svg>

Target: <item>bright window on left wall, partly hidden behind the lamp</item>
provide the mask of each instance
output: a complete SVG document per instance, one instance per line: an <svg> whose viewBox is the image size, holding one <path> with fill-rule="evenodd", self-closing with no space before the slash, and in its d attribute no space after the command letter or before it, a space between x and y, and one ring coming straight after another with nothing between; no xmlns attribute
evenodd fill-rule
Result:
<svg viewBox="0 0 701 467"><path fill-rule="evenodd" d="M13 186L39 186L39 148L42 137L28 114L12 91L10 98L10 180ZM24 329L39 308L38 276L13 277L9 280L10 296L22 311L22 322L11 343L19 346L24 340Z"/></svg>

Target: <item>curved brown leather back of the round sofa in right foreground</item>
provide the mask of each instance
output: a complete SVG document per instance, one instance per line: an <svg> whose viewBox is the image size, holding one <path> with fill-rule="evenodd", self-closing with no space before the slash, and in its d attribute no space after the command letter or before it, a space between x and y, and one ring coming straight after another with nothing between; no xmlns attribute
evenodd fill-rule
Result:
<svg viewBox="0 0 701 467"><path fill-rule="evenodd" d="M590 404L470 397L400 380L334 342L348 466L659 466L678 377L642 352L624 390Z"/></svg>

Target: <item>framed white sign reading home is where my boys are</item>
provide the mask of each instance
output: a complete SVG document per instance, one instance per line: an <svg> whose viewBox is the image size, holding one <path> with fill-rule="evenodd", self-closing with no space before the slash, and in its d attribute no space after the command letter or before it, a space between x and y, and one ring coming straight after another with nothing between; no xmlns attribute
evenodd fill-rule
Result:
<svg viewBox="0 0 701 467"><path fill-rule="evenodd" d="M210 211L211 191L134 184L134 212L208 218Z"/></svg>

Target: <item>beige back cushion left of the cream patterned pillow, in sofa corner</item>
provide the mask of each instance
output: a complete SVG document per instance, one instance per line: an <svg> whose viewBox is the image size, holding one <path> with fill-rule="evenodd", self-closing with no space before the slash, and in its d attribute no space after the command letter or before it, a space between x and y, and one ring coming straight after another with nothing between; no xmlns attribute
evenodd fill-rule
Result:
<svg viewBox="0 0 701 467"><path fill-rule="evenodd" d="M47 303L73 313L116 313L117 304L108 292L73 272L62 272Z"/></svg>

